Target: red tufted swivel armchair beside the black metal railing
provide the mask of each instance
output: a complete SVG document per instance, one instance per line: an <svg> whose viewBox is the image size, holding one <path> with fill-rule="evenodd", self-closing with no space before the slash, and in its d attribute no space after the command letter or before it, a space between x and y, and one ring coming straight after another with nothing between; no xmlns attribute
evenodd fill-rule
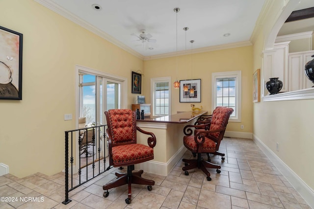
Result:
<svg viewBox="0 0 314 209"><path fill-rule="evenodd" d="M153 147L156 145L156 137L151 132L146 132L136 126L136 114L131 110L108 110L105 112L107 119L107 135L109 147L109 166L128 166L128 172L115 175L117 179L103 186L104 197L109 195L108 189L117 186L128 185L127 204L131 203L131 184L148 185L147 189L152 190L155 182L141 177L143 170L132 172L134 164L143 163L154 159ZM136 130L150 135L147 139L148 145L136 143Z"/></svg>

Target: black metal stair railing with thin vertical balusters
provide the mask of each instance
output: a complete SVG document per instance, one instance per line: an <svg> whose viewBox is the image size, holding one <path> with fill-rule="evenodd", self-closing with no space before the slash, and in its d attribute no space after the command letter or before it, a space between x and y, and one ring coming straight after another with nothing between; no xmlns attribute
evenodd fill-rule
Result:
<svg viewBox="0 0 314 209"><path fill-rule="evenodd" d="M106 126L65 131L65 200L62 202L64 205L71 202L70 191L105 172ZM76 160L77 157L79 160ZM73 174L77 171L73 170L74 163L77 162L78 172Z"/></svg>

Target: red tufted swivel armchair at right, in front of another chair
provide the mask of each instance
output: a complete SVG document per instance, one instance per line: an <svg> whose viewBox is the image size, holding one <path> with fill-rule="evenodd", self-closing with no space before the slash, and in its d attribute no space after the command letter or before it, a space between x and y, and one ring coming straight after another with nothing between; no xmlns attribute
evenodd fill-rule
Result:
<svg viewBox="0 0 314 209"><path fill-rule="evenodd" d="M185 175L189 175L187 170L200 168L207 175L207 180L210 181L210 173L207 168L216 168L217 173L221 172L219 170L220 165L204 161L201 154L216 153L224 137L229 117L233 112L232 108L217 107L212 113L209 130L206 130L206 126L209 124L187 125L184 127L183 144L192 153L197 154L197 159L183 159L185 166L182 170L185 171ZM195 128L194 135L192 135L192 127Z"/></svg>

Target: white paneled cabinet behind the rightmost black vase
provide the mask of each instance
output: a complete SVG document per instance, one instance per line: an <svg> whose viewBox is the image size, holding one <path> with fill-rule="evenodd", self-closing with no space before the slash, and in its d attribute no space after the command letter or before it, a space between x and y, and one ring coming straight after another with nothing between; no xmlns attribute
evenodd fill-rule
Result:
<svg viewBox="0 0 314 209"><path fill-rule="evenodd" d="M312 60L313 51L303 51L289 53L289 68L288 68L288 91L296 91L308 89L313 86L313 83L306 77L304 72L305 64Z"/></svg>

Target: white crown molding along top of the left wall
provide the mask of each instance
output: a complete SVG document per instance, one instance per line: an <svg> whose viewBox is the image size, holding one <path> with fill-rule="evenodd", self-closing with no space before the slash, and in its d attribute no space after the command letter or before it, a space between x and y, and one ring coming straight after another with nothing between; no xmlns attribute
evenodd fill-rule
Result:
<svg viewBox="0 0 314 209"><path fill-rule="evenodd" d="M34 1L45 6L48 9L52 10L53 12L65 17L66 19L72 21L73 23L76 23L76 24L82 26L83 28L91 31L92 33L95 33L96 35L102 37L103 39L114 44L115 46L122 48L123 50L129 52L130 54L132 54L132 55L134 55L134 56L136 56L142 60L144 59L144 56L141 55L140 53L134 51L129 46L126 46L125 44L119 42L118 40L116 40L115 38L110 36L109 34L105 33L102 30L99 30L98 28L91 25L90 23L87 23L86 21L80 19L78 16L73 15L68 10L60 7L58 4L54 3L53 1L50 1L50 0L34 0Z"/></svg>

